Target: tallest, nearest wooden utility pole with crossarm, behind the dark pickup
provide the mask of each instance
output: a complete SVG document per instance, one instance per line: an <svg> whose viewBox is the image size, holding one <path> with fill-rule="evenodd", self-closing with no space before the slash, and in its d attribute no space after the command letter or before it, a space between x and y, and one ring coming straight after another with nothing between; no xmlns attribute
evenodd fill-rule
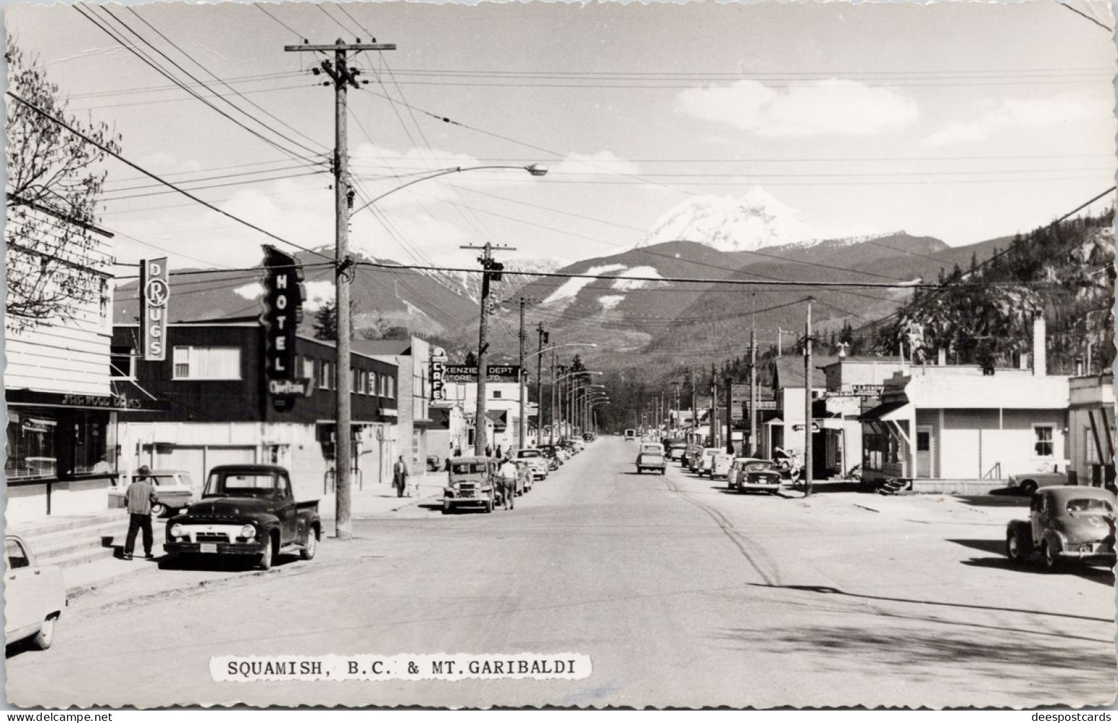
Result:
<svg viewBox="0 0 1118 723"><path fill-rule="evenodd" d="M360 40L360 39L359 39ZM349 187L349 148L345 134L345 96L350 86L360 87L357 76L360 70L349 67L348 54L362 50L395 50L392 44L344 42L339 38L333 45L286 45L285 53L333 53L334 59L322 60L320 67L330 77L324 85L334 86L334 291L335 320L338 341L334 345L334 370L337 384L337 406L334 413L334 475L335 475L335 515L334 534L339 540L348 540L351 535L350 521L350 465L352 464L352 400L350 388L353 383L353 372L350 370L350 282L353 274L353 259L349 255L349 215L353 206L353 192Z"/></svg>

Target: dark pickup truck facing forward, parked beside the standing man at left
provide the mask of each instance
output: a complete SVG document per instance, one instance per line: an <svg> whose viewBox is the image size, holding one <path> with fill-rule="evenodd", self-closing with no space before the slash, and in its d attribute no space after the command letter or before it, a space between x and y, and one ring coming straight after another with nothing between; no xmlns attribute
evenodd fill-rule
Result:
<svg viewBox="0 0 1118 723"><path fill-rule="evenodd" d="M163 550L252 556L267 570L285 553L311 560L321 536L319 501L295 502L286 469L222 465L210 470L201 501L167 521Z"/></svg>

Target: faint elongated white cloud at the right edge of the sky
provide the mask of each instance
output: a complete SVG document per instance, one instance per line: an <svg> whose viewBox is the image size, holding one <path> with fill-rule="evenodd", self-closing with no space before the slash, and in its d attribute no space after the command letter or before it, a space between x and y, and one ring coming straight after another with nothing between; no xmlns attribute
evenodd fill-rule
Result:
<svg viewBox="0 0 1118 723"><path fill-rule="evenodd" d="M1083 93L1064 93L1043 98L986 101L970 114L970 120L948 123L920 141L920 144L974 143L985 141L1006 130L1109 120L1109 98Z"/></svg>

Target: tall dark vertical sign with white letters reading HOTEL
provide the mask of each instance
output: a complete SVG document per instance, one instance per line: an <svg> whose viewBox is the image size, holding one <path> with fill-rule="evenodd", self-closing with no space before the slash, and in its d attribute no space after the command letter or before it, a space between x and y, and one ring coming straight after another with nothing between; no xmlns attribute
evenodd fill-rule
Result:
<svg viewBox="0 0 1118 723"><path fill-rule="evenodd" d="M311 380L295 374L295 333L303 318L303 274L295 259L271 246L264 247L264 378L276 411L295 406L296 397L310 394Z"/></svg>

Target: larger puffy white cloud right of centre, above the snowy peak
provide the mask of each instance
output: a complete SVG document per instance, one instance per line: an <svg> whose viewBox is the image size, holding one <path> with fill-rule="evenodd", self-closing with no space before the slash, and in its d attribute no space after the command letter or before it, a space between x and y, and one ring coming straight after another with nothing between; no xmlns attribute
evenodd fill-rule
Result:
<svg viewBox="0 0 1118 723"><path fill-rule="evenodd" d="M688 88L675 111L736 126L756 135L869 135L903 129L920 111L894 91L854 80L817 80L777 89L757 80Z"/></svg>

